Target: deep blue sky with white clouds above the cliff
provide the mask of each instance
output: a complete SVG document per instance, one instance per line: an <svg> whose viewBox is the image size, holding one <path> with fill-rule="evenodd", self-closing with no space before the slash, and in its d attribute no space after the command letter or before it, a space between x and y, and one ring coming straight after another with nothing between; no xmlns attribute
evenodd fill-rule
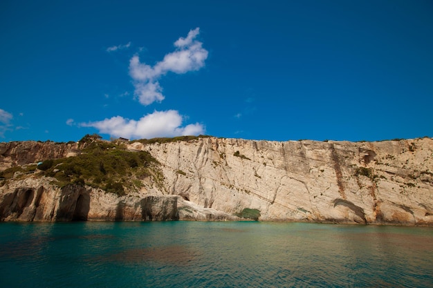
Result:
<svg viewBox="0 0 433 288"><path fill-rule="evenodd" d="M0 1L0 142L433 136L432 1Z"/></svg>

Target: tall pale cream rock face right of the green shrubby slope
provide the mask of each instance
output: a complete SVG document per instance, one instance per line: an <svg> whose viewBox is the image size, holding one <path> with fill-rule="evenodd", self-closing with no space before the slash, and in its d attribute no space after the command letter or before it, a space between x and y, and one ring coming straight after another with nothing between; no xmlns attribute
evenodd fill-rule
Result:
<svg viewBox="0 0 433 288"><path fill-rule="evenodd" d="M165 191L259 220L433 223L433 140L268 142L201 138L143 145Z"/></svg>

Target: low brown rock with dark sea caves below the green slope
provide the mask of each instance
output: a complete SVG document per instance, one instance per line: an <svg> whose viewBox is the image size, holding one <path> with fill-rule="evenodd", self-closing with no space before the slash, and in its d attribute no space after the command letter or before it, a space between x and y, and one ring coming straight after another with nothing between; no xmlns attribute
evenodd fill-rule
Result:
<svg viewBox="0 0 433 288"><path fill-rule="evenodd" d="M29 177L3 186L3 220L178 220L176 196L129 195L117 197L98 189L69 185L63 189L50 178Z"/></svg>

